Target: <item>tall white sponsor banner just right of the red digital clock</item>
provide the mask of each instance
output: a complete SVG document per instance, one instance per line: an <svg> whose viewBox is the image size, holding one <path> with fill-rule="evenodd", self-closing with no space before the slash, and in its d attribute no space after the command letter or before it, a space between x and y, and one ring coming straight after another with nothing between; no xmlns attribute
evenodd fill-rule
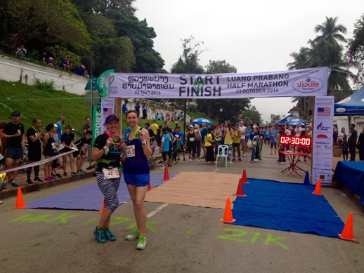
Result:
<svg viewBox="0 0 364 273"><path fill-rule="evenodd" d="M332 142L334 132L334 97L316 97L312 146L312 182L332 184Z"/></svg>

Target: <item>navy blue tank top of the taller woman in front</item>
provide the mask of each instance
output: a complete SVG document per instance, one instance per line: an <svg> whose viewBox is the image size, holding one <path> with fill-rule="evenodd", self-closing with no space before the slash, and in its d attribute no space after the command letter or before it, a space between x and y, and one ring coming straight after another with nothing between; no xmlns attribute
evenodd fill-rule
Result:
<svg viewBox="0 0 364 273"><path fill-rule="evenodd" d="M136 175L149 173L148 159L144 155L141 140L139 138L129 140L128 138L126 145L135 146L135 157L126 157L124 172Z"/></svg>

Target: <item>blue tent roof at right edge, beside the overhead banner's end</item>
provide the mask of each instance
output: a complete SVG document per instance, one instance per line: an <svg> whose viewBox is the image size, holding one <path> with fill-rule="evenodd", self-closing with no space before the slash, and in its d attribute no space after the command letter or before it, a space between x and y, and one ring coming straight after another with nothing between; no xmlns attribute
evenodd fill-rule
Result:
<svg viewBox="0 0 364 273"><path fill-rule="evenodd" d="M364 115L364 87L334 105L334 116Z"/></svg>

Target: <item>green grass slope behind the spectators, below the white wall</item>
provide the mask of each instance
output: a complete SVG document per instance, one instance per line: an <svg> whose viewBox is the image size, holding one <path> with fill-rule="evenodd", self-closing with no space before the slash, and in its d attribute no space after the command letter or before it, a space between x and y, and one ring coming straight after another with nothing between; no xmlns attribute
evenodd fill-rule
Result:
<svg viewBox="0 0 364 273"><path fill-rule="evenodd" d="M26 95L25 95L26 94ZM34 86L20 84L18 82L0 80L0 120L11 121L10 114L13 111L19 111L24 124L25 131L32 126L34 118L41 119L42 126L54 124L58 121L59 116L65 116L65 125L70 124L74 130L83 135L82 126L85 124L86 117L90 116L90 108L84 103L84 96L74 95L65 91L42 91ZM194 118L207 118L206 114L187 112ZM209 119L214 124L217 121ZM140 119L142 126L149 122L150 119ZM164 126L164 121L157 121L158 125ZM186 127L189 125L186 122ZM126 117L122 117L122 128L126 128ZM183 122L179 123L183 128ZM175 122L171 122L171 128L176 127Z"/></svg>

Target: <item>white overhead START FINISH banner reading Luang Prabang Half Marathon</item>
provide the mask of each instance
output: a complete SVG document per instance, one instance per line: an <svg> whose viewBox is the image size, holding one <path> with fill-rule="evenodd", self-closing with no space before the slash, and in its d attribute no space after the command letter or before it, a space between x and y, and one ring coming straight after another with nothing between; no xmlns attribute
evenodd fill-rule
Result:
<svg viewBox="0 0 364 273"><path fill-rule="evenodd" d="M252 74L110 73L109 98L268 98L327 95L327 67Z"/></svg>

